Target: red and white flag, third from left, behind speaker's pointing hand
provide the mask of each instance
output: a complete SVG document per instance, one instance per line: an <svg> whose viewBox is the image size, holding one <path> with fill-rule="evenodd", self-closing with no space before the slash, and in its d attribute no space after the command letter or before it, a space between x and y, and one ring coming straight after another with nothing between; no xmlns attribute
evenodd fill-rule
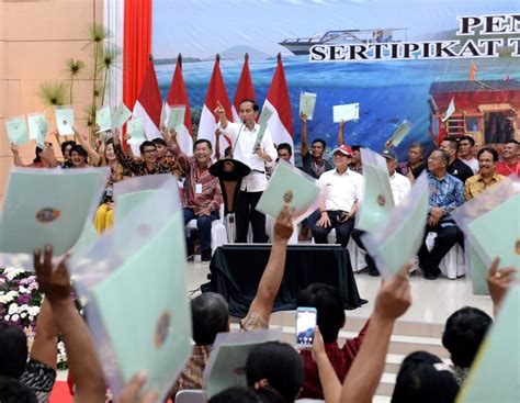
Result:
<svg viewBox="0 0 520 403"><path fill-rule="evenodd" d="M199 124L197 138L206 138L215 149L215 130L218 125L218 116L214 113L217 108L217 101L223 105L226 117L229 122L233 122L231 104L227 97L226 86L221 72L221 56L216 56L215 66L213 67L212 79L207 87L206 99L201 112L201 123ZM221 136L221 156L224 155L224 150L230 145L227 136Z"/></svg>

